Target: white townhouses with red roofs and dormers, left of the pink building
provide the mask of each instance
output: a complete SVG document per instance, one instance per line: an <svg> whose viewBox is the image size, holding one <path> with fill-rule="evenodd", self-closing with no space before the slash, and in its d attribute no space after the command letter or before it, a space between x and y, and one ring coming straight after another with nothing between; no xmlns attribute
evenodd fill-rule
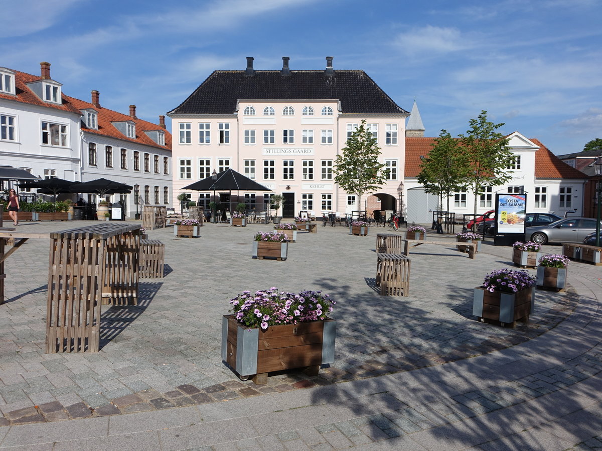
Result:
<svg viewBox="0 0 602 451"><path fill-rule="evenodd" d="M129 217L144 204L172 206L172 142L164 116L153 124L137 118L134 105L129 115L102 108L99 96L92 91L89 102L67 96L49 63L40 63L39 76L0 67L0 164L40 179L102 177L132 185L131 194L110 199L125 204Z"/></svg>

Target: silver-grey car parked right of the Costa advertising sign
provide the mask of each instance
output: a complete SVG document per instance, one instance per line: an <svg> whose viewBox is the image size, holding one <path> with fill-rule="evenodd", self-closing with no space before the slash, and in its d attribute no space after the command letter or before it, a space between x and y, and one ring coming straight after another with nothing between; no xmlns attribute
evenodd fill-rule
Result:
<svg viewBox="0 0 602 451"><path fill-rule="evenodd" d="M527 227L525 238L538 244L582 243L586 236L596 231L596 220L592 218L566 218L548 225Z"/></svg>

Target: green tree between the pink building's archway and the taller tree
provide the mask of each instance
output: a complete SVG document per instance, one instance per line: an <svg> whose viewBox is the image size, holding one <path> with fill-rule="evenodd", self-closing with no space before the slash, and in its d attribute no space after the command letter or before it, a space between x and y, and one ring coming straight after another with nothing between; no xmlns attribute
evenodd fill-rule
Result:
<svg viewBox="0 0 602 451"><path fill-rule="evenodd" d="M426 188L425 191L438 195L441 209L443 198L447 198L447 211L450 210L452 193L464 188L464 161L458 144L457 138L452 138L447 130L441 130L429 155L421 162L418 174L418 183Z"/></svg>

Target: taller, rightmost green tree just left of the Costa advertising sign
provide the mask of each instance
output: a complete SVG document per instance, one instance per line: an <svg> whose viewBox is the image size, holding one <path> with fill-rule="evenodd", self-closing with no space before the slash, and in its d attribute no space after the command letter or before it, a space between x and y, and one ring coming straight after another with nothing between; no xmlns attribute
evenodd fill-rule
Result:
<svg viewBox="0 0 602 451"><path fill-rule="evenodd" d="M508 140L499 132L503 123L494 124L487 120L487 112L471 119L466 135L460 138L460 150L464 165L462 185L474 194L474 215L477 215L477 200L485 186L504 185L512 179L512 152Z"/></svg>

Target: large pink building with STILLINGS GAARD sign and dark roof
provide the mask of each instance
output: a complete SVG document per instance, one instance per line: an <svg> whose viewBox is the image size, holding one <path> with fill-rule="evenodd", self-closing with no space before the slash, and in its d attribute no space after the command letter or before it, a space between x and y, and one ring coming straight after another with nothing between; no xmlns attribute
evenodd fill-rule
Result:
<svg viewBox="0 0 602 451"><path fill-rule="evenodd" d="M285 217L310 210L351 212L397 210L405 166L405 118L400 108L362 70L216 70L172 118L173 194L185 192L207 204L213 192L184 186L232 168L285 197ZM388 181L361 206L334 182L332 166L350 133L365 119L378 140ZM233 196L236 193L232 193ZM261 212L269 208L264 192L221 194L222 202L244 201ZM178 204L175 202L175 204Z"/></svg>

